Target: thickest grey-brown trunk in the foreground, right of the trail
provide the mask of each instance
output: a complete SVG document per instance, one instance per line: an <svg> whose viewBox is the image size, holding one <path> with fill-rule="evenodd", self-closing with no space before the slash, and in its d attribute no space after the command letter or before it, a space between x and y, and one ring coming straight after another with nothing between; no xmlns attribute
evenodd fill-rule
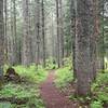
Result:
<svg viewBox="0 0 108 108"><path fill-rule="evenodd" d="M78 95L91 93L91 36L94 35L93 0L77 0L76 67ZM93 49L93 48L92 48ZM93 53L93 52L92 52Z"/></svg>

